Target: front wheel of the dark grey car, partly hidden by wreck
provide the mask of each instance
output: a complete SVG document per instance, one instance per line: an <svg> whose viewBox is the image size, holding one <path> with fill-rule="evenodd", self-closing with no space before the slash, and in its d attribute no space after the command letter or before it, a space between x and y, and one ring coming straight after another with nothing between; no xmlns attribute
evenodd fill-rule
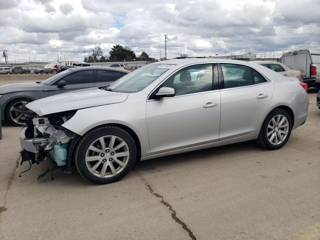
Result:
<svg viewBox="0 0 320 240"><path fill-rule="evenodd" d="M7 120L16 126L26 124L26 116L31 113L31 111L26 108L29 102L31 102L31 100L27 98L20 98L10 102L6 108Z"/></svg>

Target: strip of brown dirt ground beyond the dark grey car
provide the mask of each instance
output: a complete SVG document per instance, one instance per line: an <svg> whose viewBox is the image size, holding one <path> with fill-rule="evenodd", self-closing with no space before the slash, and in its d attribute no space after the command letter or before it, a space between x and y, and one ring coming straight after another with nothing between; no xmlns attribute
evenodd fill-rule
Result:
<svg viewBox="0 0 320 240"><path fill-rule="evenodd" d="M54 74L1 74L0 75L0 86L6 84L13 84L13 83L28 83L28 82L42 82L45 79L53 76Z"/></svg>

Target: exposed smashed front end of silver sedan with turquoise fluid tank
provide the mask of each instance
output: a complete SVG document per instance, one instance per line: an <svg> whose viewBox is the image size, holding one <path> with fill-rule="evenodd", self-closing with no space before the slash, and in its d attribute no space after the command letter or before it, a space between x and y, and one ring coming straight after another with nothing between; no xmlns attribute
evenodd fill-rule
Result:
<svg viewBox="0 0 320 240"><path fill-rule="evenodd" d="M26 117L27 124L20 131L20 142L23 148L20 152L22 158L20 165L28 161L31 168L31 164L40 164L44 161L52 163L52 169L41 174L38 180L57 168L62 168L65 173L71 173L72 150L76 144L75 139L79 135L61 125L75 113L76 110Z"/></svg>

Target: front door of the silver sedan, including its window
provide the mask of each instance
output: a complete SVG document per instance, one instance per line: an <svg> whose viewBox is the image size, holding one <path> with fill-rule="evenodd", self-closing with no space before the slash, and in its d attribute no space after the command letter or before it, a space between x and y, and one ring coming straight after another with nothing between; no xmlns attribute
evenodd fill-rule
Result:
<svg viewBox="0 0 320 240"><path fill-rule="evenodd" d="M183 68L161 84L147 100L146 118L151 154L188 148L219 140L220 92L216 64ZM174 97L153 99L161 87Z"/></svg>

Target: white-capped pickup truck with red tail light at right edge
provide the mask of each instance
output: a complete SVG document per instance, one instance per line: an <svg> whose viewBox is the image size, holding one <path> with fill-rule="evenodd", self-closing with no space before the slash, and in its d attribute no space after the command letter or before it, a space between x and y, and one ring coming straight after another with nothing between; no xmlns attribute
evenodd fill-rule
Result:
<svg viewBox="0 0 320 240"><path fill-rule="evenodd" d="M320 50L301 49L284 52L281 63L290 69L300 70L304 83L320 88ZM317 71L318 70L318 71Z"/></svg>

